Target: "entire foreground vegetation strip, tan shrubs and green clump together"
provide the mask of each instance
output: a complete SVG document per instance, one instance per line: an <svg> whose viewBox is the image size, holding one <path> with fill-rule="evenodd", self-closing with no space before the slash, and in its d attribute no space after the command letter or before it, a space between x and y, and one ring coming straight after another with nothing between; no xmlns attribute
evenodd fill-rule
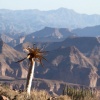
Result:
<svg viewBox="0 0 100 100"><path fill-rule="evenodd" d="M45 90L32 90L30 97L27 97L27 93L24 91L12 90L6 85L0 86L0 95L6 96L9 100L99 100L99 98L91 94L89 90L76 90L68 87L65 93L67 94L52 97Z"/></svg>

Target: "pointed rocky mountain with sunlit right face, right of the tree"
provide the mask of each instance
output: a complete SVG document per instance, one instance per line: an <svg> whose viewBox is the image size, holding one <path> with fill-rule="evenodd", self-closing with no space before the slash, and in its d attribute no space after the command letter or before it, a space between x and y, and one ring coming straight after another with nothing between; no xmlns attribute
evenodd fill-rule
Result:
<svg viewBox="0 0 100 100"><path fill-rule="evenodd" d="M54 50L47 55L47 59L50 64L46 64L45 70L37 69L36 77L96 86L97 68L76 47Z"/></svg>

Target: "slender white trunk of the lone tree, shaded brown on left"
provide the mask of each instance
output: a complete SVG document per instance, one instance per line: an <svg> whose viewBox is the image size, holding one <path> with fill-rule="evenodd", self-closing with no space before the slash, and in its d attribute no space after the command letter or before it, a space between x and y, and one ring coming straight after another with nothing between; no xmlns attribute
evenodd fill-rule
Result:
<svg viewBox="0 0 100 100"><path fill-rule="evenodd" d="M30 60L30 66L29 66L28 75L27 75L27 82L26 82L26 92L28 95L30 95L30 91L31 91L32 79L34 76L34 68L35 68L35 61L32 58Z"/></svg>

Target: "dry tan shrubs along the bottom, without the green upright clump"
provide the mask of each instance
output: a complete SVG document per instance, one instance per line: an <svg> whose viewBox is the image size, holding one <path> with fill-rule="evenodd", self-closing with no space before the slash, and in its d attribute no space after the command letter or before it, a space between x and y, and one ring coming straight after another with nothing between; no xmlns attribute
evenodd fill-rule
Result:
<svg viewBox="0 0 100 100"><path fill-rule="evenodd" d="M20 93L18 91L11 90L6 86L0 86L0 95L8 97L10 100L80 100L78 98L71 98L67 95L52 98L48 92L44 90L32 90L30 97L28 97L26 92ZM100 100L100 98L98 99L95 96L86 96L82 100Z"/></svg>

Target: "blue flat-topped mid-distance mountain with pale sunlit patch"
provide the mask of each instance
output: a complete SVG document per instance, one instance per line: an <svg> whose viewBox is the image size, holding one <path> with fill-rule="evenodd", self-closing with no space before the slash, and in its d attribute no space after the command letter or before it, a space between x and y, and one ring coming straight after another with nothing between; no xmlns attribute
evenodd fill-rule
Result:
<svg viewBox="0 0 100 100"><path fill-rule="evenodd" d="M67 28L45 27L42 30L26 35L23 42L58 42L74 35Z"/></svg>

